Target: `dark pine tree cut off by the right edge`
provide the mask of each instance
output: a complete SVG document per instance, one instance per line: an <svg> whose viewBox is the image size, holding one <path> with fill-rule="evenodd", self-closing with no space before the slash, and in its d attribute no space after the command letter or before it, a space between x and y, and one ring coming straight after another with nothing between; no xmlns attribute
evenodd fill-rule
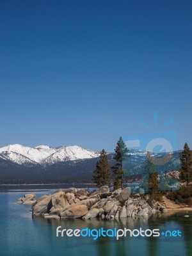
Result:
<svg viewBox="0 0 192 256"><path fill-rule="evenodd" d="M182 179L184 182L187 182L189 185L189 182L192 181L192 157L187 143L184 145L180 163L182 168L180 172L180 179Z"/></svg>

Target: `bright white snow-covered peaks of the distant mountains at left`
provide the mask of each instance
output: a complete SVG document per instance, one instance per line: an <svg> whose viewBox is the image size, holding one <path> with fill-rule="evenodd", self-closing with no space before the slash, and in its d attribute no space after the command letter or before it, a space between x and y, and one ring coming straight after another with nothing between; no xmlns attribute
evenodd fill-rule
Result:
<svg viewBox="0 0 192 256"><path fill-rule="evenodd" d="M46 145L37 147L25 147L19 144L8 145L0 148L0 157L13 163L31 164L54 164L61 161L77 161L99 156L99 152L84 149L78 146L61 146L51 148Z"/></svg>

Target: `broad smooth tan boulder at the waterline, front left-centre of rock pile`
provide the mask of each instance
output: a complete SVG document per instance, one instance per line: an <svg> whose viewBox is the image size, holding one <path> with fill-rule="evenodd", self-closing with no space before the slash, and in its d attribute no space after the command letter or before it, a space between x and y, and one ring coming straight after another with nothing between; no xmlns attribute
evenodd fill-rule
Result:
<svg viewBox="0 0 192 256"><path fill-rule="evenodd" d="M60 212L60 218L80 218L88 213L86 205L72 205L68 210Z"/></svg>

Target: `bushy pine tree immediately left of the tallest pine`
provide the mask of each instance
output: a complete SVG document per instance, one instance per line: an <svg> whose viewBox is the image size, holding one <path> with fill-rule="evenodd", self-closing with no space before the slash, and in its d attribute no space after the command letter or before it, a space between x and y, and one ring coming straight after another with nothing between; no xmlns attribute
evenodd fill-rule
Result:
<svg viewBox="0 0 192 256"><path fill-rule="evenodd" d="M92 177L94 183L97 184L97 187L110 184L110 168L111 165L108 163L108 156L106 151L103 149L100 151L100 159L96 163L96 168Z"/></svg>

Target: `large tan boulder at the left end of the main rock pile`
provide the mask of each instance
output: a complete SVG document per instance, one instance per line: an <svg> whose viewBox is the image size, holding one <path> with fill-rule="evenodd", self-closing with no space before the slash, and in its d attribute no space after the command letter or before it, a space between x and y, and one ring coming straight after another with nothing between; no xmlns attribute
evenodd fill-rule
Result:
<svg viewBox="0 0 192 256"><path fill-rule="evenodd" d="M35 204L32 207L32 214L42 215L42 214L48 213L51 207L52 207L52 201L51 201L51 195L50 195L40 200L40 202L37 202L37 204Z"/></svg>

